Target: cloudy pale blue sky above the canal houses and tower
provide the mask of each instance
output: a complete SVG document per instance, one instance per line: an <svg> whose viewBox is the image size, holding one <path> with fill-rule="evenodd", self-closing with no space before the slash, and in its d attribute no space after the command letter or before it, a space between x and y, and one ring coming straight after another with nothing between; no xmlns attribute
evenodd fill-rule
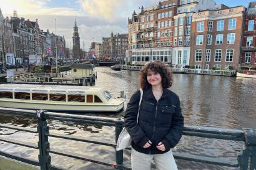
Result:
<svg viewBox="0 0 256 170"><path fill-rule="evenodd" d="M72 49L72 32L76 19L81 49L88 50L91 42L102 42L102 37L127 33L127 19L139 7L158 4L159 0L0 0L4 17L12 16L30 21L38 19L40 29L64 35L66 47ZM226 6L245 6L249 0L215 0ZM56 20L56 30L55 30Z"/></svg>

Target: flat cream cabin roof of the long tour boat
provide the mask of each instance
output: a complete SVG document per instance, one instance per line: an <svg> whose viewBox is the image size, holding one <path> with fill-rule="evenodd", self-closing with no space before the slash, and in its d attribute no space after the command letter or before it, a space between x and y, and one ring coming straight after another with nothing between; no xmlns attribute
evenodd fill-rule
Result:
<svg viewBox="0 0 256 170"><path fill-rule="evenodd" d="M5 92L34 92L34 93L72 93L72 94L96 94L104 92L99 87L62 86L62 85L27 85L27 84L4 84L0 85L0 91Z"/></svg>

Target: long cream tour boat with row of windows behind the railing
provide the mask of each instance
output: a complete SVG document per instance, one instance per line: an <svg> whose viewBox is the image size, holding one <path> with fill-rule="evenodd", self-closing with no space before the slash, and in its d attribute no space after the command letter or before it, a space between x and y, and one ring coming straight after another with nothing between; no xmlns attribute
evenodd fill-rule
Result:
<svg viewBox="0 0 256 170"><path fill-rule="evenodd" d="M103 88L58 85L0 85L0 106L29 110L118 112L124 98L112 98Z"/></svg>

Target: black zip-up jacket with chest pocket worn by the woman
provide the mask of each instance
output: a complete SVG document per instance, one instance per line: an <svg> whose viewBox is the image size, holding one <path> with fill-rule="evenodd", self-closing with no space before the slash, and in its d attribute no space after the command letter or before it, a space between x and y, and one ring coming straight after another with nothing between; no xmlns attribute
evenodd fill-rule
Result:
<svg viewBox="0 0 256 170"><path fill-rule="evenodd" d="M132 138L132 148L145 154L162 154L179 143L184 127L179 97L168 89L164 89L162 97L155 100L152 89L144 89L140 104L139 125L137 112L139 109L140 91L132 95L127 105L124 123ZM149 148L143 148L147 141L152 141ZM165 151L156 148L162 141Z"/></svg>

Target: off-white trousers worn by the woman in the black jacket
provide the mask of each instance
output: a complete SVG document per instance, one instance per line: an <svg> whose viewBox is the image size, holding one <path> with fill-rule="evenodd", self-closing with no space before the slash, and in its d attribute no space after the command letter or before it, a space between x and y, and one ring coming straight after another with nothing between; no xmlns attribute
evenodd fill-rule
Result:
<svg viewBox="0 0 256 170"><path fill-rule="evenodd" d="M150 170L154 159L157 170L178 170L172 151L164 154L144 154L132 148L132 170Z"/></svg>

